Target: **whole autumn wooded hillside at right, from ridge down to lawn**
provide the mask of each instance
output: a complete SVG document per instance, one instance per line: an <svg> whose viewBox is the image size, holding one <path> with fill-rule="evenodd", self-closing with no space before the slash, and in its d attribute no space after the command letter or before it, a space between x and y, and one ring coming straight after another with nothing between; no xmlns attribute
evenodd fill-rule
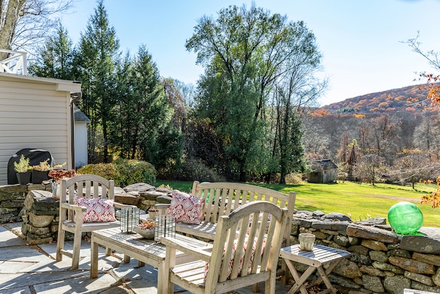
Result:
<svg viewBox="0 0 440 294"><path fill-rule="evenodd" d="M331 158L340 178L417 182L438 176L439 112L425 101L426 85L365 94L303 116L309 159Z"/></svg>

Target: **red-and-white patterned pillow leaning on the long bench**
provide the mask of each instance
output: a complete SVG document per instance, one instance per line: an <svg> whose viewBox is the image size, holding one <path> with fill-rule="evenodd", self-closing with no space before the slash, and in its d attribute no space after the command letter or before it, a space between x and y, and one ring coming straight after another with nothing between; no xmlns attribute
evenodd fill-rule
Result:
<svg viewBox="0 0 440 294"><path fill-rule="evenodd" d="M203 201L188 193L174 190L168 216L176 218L176 222L184 224L200 224Z"/></svg>

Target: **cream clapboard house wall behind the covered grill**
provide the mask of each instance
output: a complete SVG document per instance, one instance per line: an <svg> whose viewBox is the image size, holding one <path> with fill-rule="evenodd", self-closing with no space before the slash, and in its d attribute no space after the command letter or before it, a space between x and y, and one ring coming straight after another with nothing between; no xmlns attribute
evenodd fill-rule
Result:
<svg viewBox="0 0 440 294"><path fill-rule="evenodd" d="M70 94L80 83L0 73L0 185L8 183L8 161L23 148L50 151L72 167Z"/></svg>

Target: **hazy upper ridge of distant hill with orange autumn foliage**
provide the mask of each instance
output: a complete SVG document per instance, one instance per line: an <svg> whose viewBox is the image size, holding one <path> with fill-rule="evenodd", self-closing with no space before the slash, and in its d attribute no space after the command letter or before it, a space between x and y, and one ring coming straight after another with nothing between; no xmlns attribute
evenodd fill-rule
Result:
<svg viewBox="0 0 440 294"><path fill-rule="evenodd" d="M327 110L331 114L412 111L417 109L418 106L408 103L408 98L419 98L419 101L423 101L426 99L427 93L426 84L412 85L348 98L344 101L325 105L320 109Z"/></svg>

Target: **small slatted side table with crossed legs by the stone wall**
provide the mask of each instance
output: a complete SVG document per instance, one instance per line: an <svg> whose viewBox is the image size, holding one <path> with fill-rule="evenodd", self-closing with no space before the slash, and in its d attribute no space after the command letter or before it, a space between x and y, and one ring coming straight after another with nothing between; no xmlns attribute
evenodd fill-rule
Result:
<svg viewBox="0 0 440 294"><path fill-rule="evenodd" d="M290 272L294 276L295 284L289 290L288 294L294 294L298 289L302 294L307 294L307 290L304 286L304 282L307 278L314 273L315 270L318 271L320 277L313 285L320 284L324 281L325 286L327 287L327 291L336 293L336 288L331 285L329 278L327 275L333 271L333 269L339 264L342 258L347 258L351 253L348 251L323 246L319 244L314 245L313 251L301 251L299 249L299 244L287 246L281 249L280 257L283 258L289 268ZM295 269L295 266L292 262L298 262L300 264L306 264L309 267L303 273L303 275L298 275L298 272ZM323 264L330 263L327 270L322 268ZM312 285L312 286L313 286Z"/></svg>

